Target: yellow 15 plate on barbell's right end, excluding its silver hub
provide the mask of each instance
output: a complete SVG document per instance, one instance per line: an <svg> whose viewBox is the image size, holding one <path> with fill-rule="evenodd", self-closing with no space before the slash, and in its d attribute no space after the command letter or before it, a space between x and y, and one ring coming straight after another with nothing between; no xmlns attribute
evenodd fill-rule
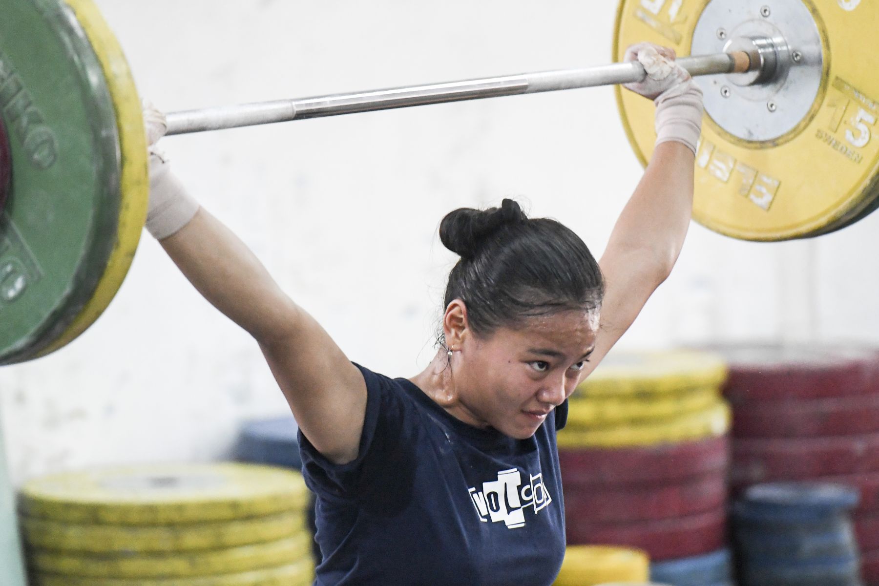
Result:
<svg viewBox="0 0 879 586"><path fill-rule="evenodd" d="M819 8L811 0L780 0L778 5L794 1L808 9L822 35L821 86L802 124L769 141L742 140L708 114L702 125L694 219L724 235L777 241L823 234L863 217L879 195L879 140L874 136L879 54L863 50L875 36L879 4L825 2ZM625 47L640 40L691 53L696 24L709 4L715 2L623 0L614 35L617 60ZM770 18L783 11L768 0L763 5ZM725 28L735 30L740 24L730 20ZM619 88L616 95L629 141L646 164L656 141L653 105ZM755 102L754 116L766 115L766 108Z"/></svg>

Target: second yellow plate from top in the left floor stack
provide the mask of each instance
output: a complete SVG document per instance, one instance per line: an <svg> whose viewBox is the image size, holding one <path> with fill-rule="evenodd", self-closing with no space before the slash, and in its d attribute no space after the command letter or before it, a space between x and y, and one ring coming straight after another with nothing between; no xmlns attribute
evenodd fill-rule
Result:
<svg viewBox="0 0 879 586"><path fill-rule="evenodd" d="M25 543L65 552L182 552L245 546L307 533L303 512L190 525L70 525L22 517Z"/></svg>

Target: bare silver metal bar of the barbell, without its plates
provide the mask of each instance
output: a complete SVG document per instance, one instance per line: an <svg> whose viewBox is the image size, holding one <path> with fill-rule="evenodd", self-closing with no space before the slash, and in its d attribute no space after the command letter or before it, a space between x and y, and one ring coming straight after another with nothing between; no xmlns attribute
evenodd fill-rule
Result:
<svg viewBox="0 0 879 586"><path fill-rule="evenodd" d="M745 73L752 69L751 58L745 52L681 57L677 61L692 76ZM316 98L216 106L169 113L167 134L199 133L222 128L251 127L273 122L406 108L413 105L443 104L540 91L636 83L642 81L645 76L641 63L631 61L585 69L540 71L515 76L484 77L459 82L332 94Z"/></svg>

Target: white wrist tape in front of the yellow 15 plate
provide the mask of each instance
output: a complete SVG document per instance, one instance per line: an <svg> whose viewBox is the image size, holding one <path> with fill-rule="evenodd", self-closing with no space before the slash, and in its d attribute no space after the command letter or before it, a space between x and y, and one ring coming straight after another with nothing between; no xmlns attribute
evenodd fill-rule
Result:
<svg viewBox="0 0 879 586"><path fill-rule="evenodd" d="M653 103L657 106L657 141L683 142L693 154L702 127L702 90L692 79L679 83L660 94Z"/></svg>

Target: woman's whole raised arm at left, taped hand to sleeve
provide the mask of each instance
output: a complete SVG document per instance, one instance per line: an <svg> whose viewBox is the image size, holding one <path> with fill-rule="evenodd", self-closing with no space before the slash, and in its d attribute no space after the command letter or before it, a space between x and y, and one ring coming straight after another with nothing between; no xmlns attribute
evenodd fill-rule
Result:
<svg viewBox="0 0 879 586"><path fill-rule="evenodd" d="M160 124L155 112L146 119L150 138L157 140L161 131L149 128ZM355 459L367 405L360 371L156 155L150 156L147 229L205 299L256 339L317 451L338 464Z"/></svg>

